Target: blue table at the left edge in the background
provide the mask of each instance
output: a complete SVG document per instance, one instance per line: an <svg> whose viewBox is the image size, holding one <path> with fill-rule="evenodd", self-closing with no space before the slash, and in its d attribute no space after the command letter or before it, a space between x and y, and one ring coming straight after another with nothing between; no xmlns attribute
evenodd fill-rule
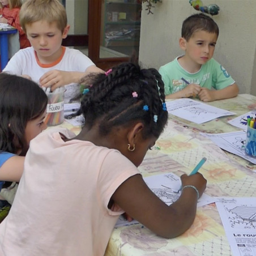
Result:
<svg viewBox="0 0 256 256"><path fill-rule="evenodd" d="M0 30L1 70L8 63L8 35L15 34L17 31L15 28Z"/></svg>

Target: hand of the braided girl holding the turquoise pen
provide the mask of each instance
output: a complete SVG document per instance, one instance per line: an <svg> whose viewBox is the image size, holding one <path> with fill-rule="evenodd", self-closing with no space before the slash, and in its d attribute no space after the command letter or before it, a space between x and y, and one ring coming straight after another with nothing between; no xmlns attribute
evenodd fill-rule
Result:
<svg viewBox="0 0 256 256"><path fill-rule="evenodd" d="M206 189L206 179L202 174L196 173L191 176L187 176L187 174L183 174L181 176L182 187L187 185L195 186L198 189L199 196L203 194L203 191Z"/></svg>

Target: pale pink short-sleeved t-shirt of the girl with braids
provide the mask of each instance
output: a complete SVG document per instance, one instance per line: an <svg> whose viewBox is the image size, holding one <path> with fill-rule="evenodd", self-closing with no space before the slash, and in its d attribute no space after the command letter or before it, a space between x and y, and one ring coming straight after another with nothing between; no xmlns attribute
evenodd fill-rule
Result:
<svg viewBox="0 0 256 256"><path fill-rule="evenodd" d="M0 224L0 255L104 255L119 207L114 191L139 171L117 150L63 128L31 141L11 211ZM112 209L113 209L112 208Z"/></svg>

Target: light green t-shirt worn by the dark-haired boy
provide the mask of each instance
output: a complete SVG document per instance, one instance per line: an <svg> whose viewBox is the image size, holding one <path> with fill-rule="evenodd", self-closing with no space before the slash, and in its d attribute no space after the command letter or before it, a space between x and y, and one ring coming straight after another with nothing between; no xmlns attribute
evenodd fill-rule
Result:
<svg viewBox="0 0 256 256"><path fill-rule="evenodd" d="M231 75L215 59L210 59L210 61L201 66L198 72L192 74L178 63L179 57L159 69L164 82L165 95L181 91L187 86L181 78L185 78L189 83L199 84L200 87L208 89L223 89L234 83Z"/></svg>

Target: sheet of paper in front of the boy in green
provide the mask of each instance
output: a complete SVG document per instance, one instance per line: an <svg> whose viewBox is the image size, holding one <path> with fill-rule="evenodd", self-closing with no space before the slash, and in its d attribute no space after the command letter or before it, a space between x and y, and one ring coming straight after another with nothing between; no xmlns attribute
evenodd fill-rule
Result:
<svg viewBox="0 0 256 256"><path fill-rule="evenodd" d="M168 113L184 118L194 123L204 123L217 117L236 114L225 109L216 108L192 99L177 99L167 101Z"/></svg>

